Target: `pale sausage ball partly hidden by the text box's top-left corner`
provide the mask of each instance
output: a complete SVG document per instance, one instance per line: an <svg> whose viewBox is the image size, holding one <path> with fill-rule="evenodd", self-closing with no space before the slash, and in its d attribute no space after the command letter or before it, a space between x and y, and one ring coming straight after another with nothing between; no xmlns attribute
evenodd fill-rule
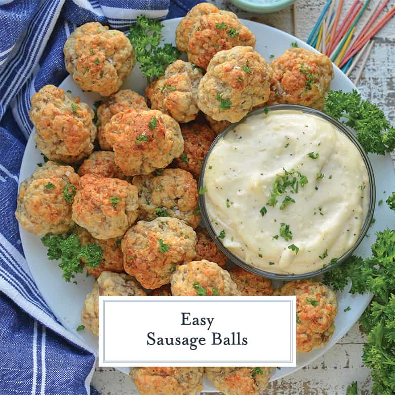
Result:
<svg viewBox="0 0 395 395"><path fill-rule="evenodd" d="M93 290L85 298L81 322L89 332L99 336L99 296L145 296L139 283L128 274L103 271Z"/></svg>

